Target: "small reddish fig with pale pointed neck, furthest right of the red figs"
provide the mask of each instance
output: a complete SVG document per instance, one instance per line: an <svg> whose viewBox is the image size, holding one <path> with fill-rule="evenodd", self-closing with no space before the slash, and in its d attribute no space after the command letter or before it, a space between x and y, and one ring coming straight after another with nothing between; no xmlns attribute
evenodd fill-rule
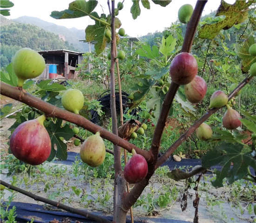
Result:
<svg viewBox="0 0 256 223"><path fill-rule="evenodd" d="M222 124L226 129L236 129L242 122L240 121L241 116L236 110L232 109L229 105L227 105L228 111L225 112L222 118Z"/></svg>

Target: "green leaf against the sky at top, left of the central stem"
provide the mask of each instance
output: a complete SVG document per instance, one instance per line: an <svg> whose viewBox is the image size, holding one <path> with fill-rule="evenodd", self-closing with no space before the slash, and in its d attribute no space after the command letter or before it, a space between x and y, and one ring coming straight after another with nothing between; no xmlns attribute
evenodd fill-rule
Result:
<svg viewBox="0 0 256 223"><path fill-rule="evenodd" d="M98 1L95 0L75 0L69 3L69 7L63 11L53 11L51 17L54 19L73 19L89 15L97 6Z"/></svg>

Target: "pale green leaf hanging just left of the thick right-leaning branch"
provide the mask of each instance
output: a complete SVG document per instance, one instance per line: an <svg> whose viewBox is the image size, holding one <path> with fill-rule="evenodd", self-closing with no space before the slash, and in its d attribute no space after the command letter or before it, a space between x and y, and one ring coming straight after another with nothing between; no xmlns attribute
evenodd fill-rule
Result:
<svg viewBox="0 0 256 223"><path fill-rule="evenodd" d="M148 109L154 110L154 116L156 119L158 119L162 109L162 103L165 98L165 94L162 91L157 90L155 87L152 87L150 92L152 93L153 98L150 98L146 102L146 106Z"/></svg>

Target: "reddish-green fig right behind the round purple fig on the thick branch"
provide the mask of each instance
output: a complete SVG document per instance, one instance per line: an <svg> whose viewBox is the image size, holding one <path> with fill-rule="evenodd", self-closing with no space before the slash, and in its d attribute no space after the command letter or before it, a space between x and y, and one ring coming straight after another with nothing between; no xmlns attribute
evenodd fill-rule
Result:
<svg viewBox="0 0 256 223"><path fill-rule="evenodd" d="M199 103L204 98L207 91L207 84L204 79L196 75L195 78L184 86L187 99L194 104Z"/></svg>

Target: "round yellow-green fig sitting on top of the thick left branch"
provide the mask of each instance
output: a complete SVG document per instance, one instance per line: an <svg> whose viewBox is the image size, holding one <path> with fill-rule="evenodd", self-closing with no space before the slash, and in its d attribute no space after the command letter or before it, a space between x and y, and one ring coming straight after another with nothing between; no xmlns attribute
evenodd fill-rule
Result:
<svg viewBox="0 0 256 223"><path fill-rule="evenodd" d="M79 114L84 105L84 96L78 89L68 89L62 95L61 104L67 111Z"/></svg>

